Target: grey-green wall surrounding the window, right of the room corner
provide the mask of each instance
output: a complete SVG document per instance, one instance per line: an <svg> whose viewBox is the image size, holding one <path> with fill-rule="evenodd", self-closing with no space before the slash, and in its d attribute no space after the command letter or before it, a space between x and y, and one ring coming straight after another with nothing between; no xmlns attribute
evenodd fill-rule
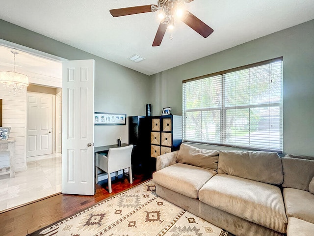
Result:
<svg viewBox="0 0 314 236"><path fill-rule="evenodd" d="M150 76L155 91L153 115L168 106L172 114L182 115L183 80L281 56L284 154L314 156L314 20Z"/></svg>

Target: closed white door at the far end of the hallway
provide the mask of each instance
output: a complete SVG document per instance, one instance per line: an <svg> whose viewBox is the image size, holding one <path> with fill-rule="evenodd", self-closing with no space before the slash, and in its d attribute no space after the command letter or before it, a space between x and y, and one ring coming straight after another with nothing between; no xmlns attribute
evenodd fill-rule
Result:
<svg viewBox="0 0 314 236"><path fill-rule="evenodd" d="M27 157L52 153L53 95L27 92Z"/></svg>

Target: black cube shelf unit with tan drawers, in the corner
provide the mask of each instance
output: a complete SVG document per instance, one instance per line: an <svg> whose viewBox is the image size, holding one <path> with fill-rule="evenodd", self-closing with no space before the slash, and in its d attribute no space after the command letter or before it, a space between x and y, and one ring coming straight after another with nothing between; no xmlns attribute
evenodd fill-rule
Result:
<svg viewBox="0 0 314 236"><path fill-rule="evenodd" d="M129 117L129 144L134 145L134 173L151 177L156 157L178 150L182 143L182 116Z"/></svg>

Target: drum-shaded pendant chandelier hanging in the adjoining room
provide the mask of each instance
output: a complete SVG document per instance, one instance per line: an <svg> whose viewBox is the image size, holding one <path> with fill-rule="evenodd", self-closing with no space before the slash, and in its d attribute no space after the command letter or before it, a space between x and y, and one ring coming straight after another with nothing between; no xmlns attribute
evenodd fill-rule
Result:
<svg viewBox="0 0 314 236"><path fill-rule="evenodd" d="M18 52L11 51L14 55L14 70L13 71L1 71L0 72L0 82L4 85L5 89L12 92L14 95L16 93L21 93L25 91L28 86L28 76L15 72L15 55Z"/></svg>

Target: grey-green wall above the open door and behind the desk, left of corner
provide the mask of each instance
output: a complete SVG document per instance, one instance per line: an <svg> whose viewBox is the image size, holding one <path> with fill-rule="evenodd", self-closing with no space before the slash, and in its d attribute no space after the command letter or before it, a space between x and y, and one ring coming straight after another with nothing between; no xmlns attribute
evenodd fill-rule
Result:
<svg viewBox="0 0 314 236"><path fill-rule="evenodd" d="M64 59L94 59L96 112L145 116L145 104L152 103L147 75L3 20L0 38ZM123 143L129 142L128 125L95 126L95 147L115 144L120 137Z"/></svg>

